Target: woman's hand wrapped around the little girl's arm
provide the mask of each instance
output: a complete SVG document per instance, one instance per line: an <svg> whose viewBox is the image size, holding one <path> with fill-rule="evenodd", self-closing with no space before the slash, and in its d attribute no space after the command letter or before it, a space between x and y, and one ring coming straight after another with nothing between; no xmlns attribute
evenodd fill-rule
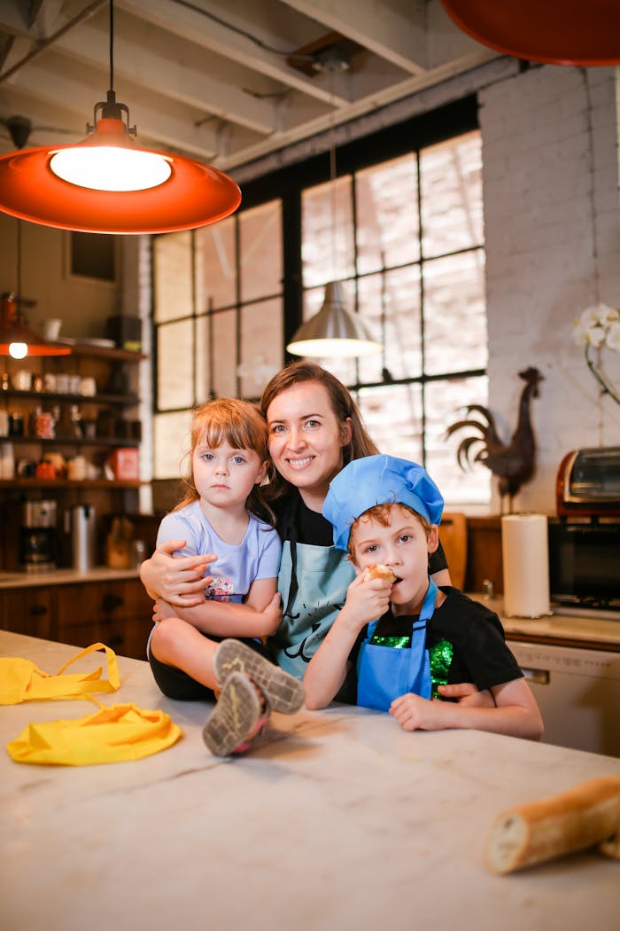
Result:
<svg viewBox="0 0 620 931"><path fill-rule="evenodd" d="M203 556L173 556L185 546L185 540L166 540L140 566L140 579L153 599L162 598L178 608L204 603L204 589L211 581L204 575L217 560L215 553Z"/></svg>

